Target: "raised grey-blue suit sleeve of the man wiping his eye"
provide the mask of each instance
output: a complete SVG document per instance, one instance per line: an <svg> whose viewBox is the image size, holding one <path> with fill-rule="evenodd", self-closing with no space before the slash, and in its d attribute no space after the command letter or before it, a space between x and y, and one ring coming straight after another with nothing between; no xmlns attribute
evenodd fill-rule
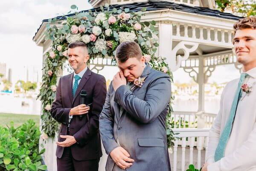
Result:
<svg viewBox="0 0 256 171"><path fill-rule="evenodd" d="M147 78L146 78L147 79ZM153 122L166 108L171 99L171 80L163 76L154 80L149 86L145 99L137 98L125 85L116 90L114 100L137 121Z"/></svg>

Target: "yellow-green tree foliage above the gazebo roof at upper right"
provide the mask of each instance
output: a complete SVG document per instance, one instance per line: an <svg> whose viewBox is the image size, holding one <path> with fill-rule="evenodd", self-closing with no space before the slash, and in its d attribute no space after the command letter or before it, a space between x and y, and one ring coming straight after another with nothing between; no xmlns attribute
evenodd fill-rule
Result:
<svg viewBox="0 0 256 171"><path fill-rule="evenodd" d="M256 15L255 0L216 0L215 2L221 12L229 9L233 14L242 17Z"/></svg>

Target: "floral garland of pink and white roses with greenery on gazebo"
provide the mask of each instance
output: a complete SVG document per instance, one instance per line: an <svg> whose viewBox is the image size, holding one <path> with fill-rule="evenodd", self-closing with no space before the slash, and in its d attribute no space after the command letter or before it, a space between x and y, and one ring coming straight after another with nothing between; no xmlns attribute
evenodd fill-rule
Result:
<svg viewBox="0 0 256 171"><path fill-rule="evenodd" d="M172 79L172 72L165 63L165 58L156 57L158 45L158 31L155 30L155 21L140 22L143 8L139 12L129 12L128 8L116 9L100 7L100 12L76 12L67 20L59 18L49 19L47 23L46 39L52 41L52 51L47 52L45 66L43 68L43 83L38 98L42 101L43 114L42 131L49 137L55 137L58 131L58 122L50 115L49 110L55 99L57 73L61 69L64 61L67 60L67 46L75 41L82 41L87 44L91 59L96 57L113 57L116 47L124 41L136 41L140 44L146 61L156 70L168 73ZM61 27L57 26L61 24ZM113 65L116 64L115 58L112 59ZM166 126L167 134L172 136L170 121L170 111ZM173 137L171 137L172 139Z"/></svg>

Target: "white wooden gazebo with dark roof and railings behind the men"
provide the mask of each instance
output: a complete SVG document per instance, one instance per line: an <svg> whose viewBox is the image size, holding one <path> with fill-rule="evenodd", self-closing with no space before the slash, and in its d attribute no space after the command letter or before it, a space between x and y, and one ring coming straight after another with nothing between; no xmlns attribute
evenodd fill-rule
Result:
<svg viewBox="0 0 256 171"><path fill-rule="evenodd" d="M198 83L198 112L175 111L173 114L174 120L179 122L173 130L182 138L175 141L170 160L172 171L185 171L188 164L200 168L207 151L209 127L215 119L215 114L204 112L204 85L218 65L233 64L241 70L232 51L233 24L240 17L215 10L214 0L89 0L89 3L93 8L109 3L116 9L125 7L130 11L146 7L142 21L155 20L159 32L156 55L166 57L173 72L181 67ZM43 21L33 38L43 47L44 59L51 49L51 41L44 39L47 21ZM111 59L96 58L90 63L90 69L95 72L104 70L105 66L112 66ZM182 122L188 122L189 128L181 128ZM44 161L49 171L55 171L55 142L48 142L45 148ZM104 154L100 171L105 171L105 159Z"/></svg>

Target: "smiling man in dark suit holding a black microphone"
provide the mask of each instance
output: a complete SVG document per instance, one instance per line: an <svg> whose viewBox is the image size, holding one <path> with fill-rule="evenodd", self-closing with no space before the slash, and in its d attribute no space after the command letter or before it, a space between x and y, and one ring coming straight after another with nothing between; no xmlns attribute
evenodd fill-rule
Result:
<svg viewBox="0 0 256 171"><path fill-rule="evenodd" d="M87 68L88 60L86 44L68 45L68 61L74 72L60 78L50 111L61 123L56 151L58 171L98 171L102 156L99 114L107 90L105 78ZM86 91L86 104L91 105L80 104L81 90Z"/></svg>

